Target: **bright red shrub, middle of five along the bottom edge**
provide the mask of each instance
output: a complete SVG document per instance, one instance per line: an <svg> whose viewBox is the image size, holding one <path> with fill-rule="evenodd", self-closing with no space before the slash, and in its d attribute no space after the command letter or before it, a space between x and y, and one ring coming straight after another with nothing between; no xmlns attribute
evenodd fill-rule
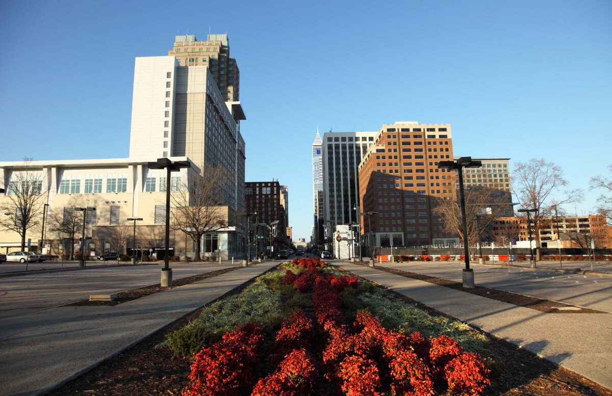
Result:
<svg viewBox="0 0 612 396"><path fill-rule="evenodd" d="M340 363L341 389L346 396L378 396L381 386L376 362L360 356L347 356Z"/></svg>

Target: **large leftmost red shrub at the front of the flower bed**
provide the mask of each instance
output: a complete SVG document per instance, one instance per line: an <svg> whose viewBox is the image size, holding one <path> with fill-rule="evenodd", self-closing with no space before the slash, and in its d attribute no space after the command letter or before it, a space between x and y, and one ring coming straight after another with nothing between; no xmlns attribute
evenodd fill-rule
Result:
<svg viewBox="0 0 612 396"><path fill-rule="evenodd" d="M184 396L234 396L250 389L252 367L263 343L261 326L245 325L195 356Z"/></svg>

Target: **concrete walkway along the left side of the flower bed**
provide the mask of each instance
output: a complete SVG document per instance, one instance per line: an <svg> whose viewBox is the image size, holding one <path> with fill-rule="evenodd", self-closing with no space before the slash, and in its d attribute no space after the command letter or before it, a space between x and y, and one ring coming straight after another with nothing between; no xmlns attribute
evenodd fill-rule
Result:
<svg viewBox="0 0 612 396"><path fill-rule="evenodd" d="M259 276L264 262L117 306L55 307L3 320L0 395L40 395Z"/></svg>

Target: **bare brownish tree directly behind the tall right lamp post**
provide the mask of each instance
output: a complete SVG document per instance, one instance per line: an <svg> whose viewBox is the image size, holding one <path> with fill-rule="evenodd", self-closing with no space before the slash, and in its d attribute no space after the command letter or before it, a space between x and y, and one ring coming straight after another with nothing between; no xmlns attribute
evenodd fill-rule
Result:
<svg viewBox="0 0 612 396"><path fill-rule="evenodd" d="M503 213L504 205L502 204L509 204L508 195L505 191L484 186L474 186L465 189L468 241L472 241L472 244L468 243L468 245L472 254L474 242L478 241L480 243L483 238L491 237L491 225L494 219ZM455 199L439 200L435 210L436 213L442 216L444 232L459 235L463 239L463 221L461 219L460 205L461 203ZM493 211L483 213L483 208L488 207L494 207Z"/></svg>

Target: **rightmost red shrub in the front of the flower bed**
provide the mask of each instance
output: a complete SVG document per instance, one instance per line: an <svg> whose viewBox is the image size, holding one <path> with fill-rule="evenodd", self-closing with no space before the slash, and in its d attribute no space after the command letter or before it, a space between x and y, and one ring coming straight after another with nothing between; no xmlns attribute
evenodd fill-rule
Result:
<svg viewBox="0 0 612 396"><path fill-rule="evenodd" d="M449 391L457 396L480 396L485 387L491 384L488 380L490 370L479 355L462 353L446 365L446 380Z"/></svg>

